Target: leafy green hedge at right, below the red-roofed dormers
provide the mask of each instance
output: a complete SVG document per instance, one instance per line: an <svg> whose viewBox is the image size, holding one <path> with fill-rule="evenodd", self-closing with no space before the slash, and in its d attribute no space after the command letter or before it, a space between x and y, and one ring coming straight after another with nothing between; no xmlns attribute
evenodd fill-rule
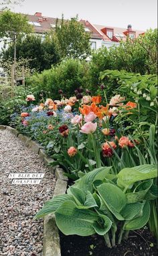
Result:
<svg viewBox="0 0 158 256"><path fill-rule="evenodd" d="M98 49L90 62L90 85L94 91L100 72L106 69L127 72L157 74L157 30L148 30L137 39L121 42L118 47Z"/></svg>

